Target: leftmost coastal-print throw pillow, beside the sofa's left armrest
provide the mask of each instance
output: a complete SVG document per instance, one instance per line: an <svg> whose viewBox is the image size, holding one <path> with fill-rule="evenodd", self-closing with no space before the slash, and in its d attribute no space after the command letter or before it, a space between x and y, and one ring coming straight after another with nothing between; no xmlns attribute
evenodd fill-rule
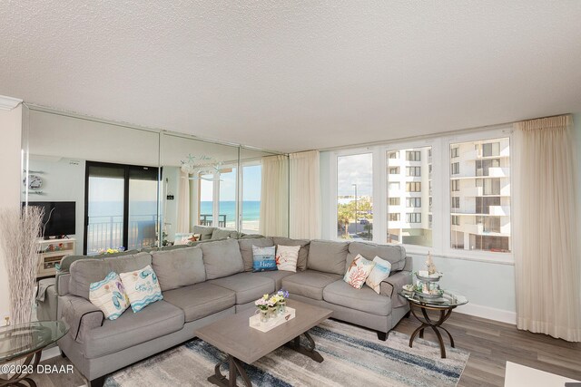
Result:
<svg viewBox="0 0 581 387"><path fill-rule="evenodd" d="M89 301L103 311L105 318L114 320L129 307L129 299L121 279L112 271L103 281L89 285Z"/></svg>

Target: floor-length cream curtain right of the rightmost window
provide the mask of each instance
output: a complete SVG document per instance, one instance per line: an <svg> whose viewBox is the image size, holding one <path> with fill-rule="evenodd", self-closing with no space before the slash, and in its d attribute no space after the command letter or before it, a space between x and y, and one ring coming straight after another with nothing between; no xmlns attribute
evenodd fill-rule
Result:
<svg viewBox="0 0 581 387"><path fill-rule="evenodd" d="M515 124L517 327L581 341L576 156L571 116Z"/></svg>

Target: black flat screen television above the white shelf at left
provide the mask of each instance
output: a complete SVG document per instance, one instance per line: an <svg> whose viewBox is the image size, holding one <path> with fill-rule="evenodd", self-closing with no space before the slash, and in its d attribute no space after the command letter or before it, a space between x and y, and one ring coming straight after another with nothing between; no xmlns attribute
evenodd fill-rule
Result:
<svg viewBox="0 0 581 387"><path fill-rule="evenodd" d="M40 237L75 234L76 203L74 201L29 201L28 205L44 208L44 234Z"/></svg>

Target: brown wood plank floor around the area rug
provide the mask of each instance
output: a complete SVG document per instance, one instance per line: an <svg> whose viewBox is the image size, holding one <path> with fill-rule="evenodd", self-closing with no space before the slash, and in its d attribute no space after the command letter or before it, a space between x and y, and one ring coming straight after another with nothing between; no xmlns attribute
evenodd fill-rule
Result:
<svg viewBox="0 0 581 387"><path fill-rule="evenodd" d="M396 331L410 335L418 326L419 322L411 316L401 320ZM453 313L444 326L454 337L456 347L470 352L458 386L503 386L507 361L581 379L581 343L567 343L545 334L519 331L515 325L468 314ZM424 338L436 341L436 335L432 332L426 331ZM43 363L60 365L69 361L58 356ZM204 379L206 376L200 375ZM34 381L38 387L77 387L84 384L79 372L35 375Z"/></svg>

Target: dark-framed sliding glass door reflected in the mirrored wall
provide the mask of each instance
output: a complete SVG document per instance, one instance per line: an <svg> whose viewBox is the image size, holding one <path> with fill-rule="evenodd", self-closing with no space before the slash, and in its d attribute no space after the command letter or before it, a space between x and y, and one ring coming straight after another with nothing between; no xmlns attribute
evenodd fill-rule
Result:
<svg viewBox="0 0 581 387"><path fill-rule="evenodd" d="M156 246L158 169L87 161L84 254Z"/></svg>

